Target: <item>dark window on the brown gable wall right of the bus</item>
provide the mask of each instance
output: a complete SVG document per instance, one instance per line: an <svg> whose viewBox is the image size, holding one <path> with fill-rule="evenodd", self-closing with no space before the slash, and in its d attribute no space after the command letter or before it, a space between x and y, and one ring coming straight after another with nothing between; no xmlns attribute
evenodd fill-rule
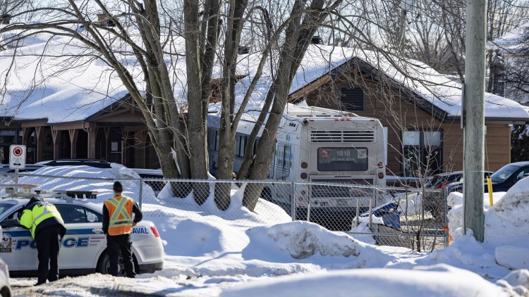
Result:
<svg viewBox="0 0 529 297"><path fill-rule="evenodd" d="M403 171L407 177L442 172L442 131L403 131Z"/></svg>

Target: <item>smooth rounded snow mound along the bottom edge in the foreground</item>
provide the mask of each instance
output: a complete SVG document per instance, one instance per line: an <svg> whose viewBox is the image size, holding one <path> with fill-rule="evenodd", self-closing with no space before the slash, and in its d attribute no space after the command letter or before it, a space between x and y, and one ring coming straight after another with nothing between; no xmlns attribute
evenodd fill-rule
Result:
<svg viewBox="0 0 529 297"><path fill-rule="evenodd" d="M509 296L478 274L448 265L413 270L365 269L276 277L227 289L238 296Z"/></svg>

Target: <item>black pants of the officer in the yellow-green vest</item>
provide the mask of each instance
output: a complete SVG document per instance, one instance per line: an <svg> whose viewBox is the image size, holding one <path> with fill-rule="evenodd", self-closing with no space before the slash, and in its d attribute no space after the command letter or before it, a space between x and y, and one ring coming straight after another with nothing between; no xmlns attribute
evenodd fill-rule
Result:
<svg viewBox="0 0 529 297"><path fill-rule="evenodd" d="M51 225L39 229L35 234L37 257L39 258L39 273L37 284L45 284L59 279L59 248L61 234L59 225Z"/></svg>

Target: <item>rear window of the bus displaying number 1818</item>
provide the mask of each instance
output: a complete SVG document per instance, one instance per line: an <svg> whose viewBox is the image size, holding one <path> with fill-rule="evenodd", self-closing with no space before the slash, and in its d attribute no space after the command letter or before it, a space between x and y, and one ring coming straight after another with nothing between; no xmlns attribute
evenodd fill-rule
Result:
<svg viewBox="0 0 529 297"><path fill-rule="evenodd" d="M318 171L367 171L367 148L318 148Z"/></svg>

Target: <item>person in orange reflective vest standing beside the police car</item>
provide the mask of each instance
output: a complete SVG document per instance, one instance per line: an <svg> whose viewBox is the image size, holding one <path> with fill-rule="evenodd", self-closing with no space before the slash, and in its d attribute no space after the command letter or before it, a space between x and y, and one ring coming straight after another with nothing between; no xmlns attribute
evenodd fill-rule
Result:
<svg viewBox="0 0 529 297"><path fill-rule="evenodd" d="M123 185L114 182L114 197L104 201L103 232L107 236L107 253L109 255L109 272L118 275L119 251L123 257L126 277L135 277L134 263L130 246L130 233L133 227L142 220L143 214L132 198L123 196ZM134 219L133 219L134 213Z"/></svg>

